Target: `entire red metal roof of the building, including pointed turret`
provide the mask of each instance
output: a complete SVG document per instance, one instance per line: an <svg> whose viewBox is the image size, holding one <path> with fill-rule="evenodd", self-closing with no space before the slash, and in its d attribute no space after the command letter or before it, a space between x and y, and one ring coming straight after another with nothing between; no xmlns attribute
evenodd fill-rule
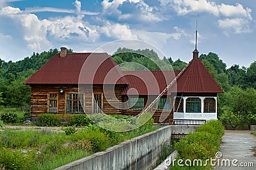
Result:
<svg viewBox="0 0 256 170"><path fill-rule="evenodd" d="M122 84L122 94L158 95L180 71L122 71L107 53L60 53L54 55L31 78L32 84ZM136 90L134 90L136 89ZM177 89L177 90L176 90ZM130 91L129 91L130 90ZM195 58L167 92L222 93L218 83Z"/></svg>

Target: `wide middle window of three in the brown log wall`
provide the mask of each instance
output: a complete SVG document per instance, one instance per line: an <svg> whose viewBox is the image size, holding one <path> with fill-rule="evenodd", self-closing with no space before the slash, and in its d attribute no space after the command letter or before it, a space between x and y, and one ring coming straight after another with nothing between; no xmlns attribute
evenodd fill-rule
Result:
<svg viewBox="0 0 256 170"><path fill-rule="evenodd" d="M77 93L67 94L67 113L84 113L84 95Z"/></svg>

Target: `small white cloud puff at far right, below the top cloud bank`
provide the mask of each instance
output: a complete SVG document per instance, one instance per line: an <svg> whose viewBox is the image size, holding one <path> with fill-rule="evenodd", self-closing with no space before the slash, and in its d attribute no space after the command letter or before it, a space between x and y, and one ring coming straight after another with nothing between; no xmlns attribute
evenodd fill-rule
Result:
<svg viewBox="0 0 256 170"><path fill-rule="evenodd" d="M227 35L228 32L235 32L236 34L251 32L248 24L249 21L244 18L218 20L218 26L224 29Z"/></svg>

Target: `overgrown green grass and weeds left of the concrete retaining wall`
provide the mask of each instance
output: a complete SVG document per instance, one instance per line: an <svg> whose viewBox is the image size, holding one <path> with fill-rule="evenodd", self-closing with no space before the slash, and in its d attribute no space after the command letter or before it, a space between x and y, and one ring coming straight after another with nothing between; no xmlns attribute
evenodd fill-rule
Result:
<svg viewBox="0 0 256 170"><path fill-rule="evenodd" d="M89 125L70 135L49 129L2 128L0 169L54 169L158 128L147 124L129 132L112 132Z"/></svg>

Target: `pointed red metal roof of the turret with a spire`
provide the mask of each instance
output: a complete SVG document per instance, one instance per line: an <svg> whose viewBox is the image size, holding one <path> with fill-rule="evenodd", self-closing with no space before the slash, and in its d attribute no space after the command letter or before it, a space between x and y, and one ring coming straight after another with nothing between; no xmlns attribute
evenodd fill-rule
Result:
<svg viewBox="0 0 256 170"><path fill-rule="evenodd" d="M177 92L223 93L223 90L201 60L195 58L178 78Z"/></svg>

